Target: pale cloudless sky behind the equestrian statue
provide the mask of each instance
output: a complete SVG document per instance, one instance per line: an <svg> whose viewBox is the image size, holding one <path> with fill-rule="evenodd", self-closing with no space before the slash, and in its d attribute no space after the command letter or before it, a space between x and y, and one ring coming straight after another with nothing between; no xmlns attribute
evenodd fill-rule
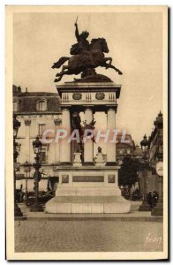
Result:
<svg viewBox="0 0 173 265"><path fill-rule="evenodd" d="M124 74L105 68L97 73L122 85L117 101L117 129L126 130L139 143L151 134L154 119L162 111L162 13L161 12L28 12L13 15L13 84L28 92L56 93L58 70L51 66L59 57L70 56L79 32L89 32L88 41L103 37L109 47L107 57ZM64 76L61 83L75 76ZM96 114L97 127L106 124Z"/></svg>

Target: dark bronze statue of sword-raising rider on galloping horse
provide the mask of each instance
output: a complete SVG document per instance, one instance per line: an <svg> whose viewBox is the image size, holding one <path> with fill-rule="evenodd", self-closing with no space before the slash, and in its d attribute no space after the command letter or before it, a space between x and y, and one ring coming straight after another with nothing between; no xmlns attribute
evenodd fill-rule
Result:
<svg viewBox="0 0 173 265"><path fill-rule="evenodd" d="M77 18L78 19L78 18ZM123 74L117 67L112 65L112 58L105 57L104 53L109 53L107 42L104 38L92 39L91 43L87 41L89 33L83 31L79 34L79 28L77 21L75 23L75 36L77 43L71 46L71 57L61 57L52 68L60 68L65 62L67 65L63 65L62 71L56 73L55 82L59 82L64 75L79 74L81 73L81 79L74 79L78 82L100 82L111 81L108 77L97 74L95 68L102 66L106 69L112 68L118 74Z"/></svg>

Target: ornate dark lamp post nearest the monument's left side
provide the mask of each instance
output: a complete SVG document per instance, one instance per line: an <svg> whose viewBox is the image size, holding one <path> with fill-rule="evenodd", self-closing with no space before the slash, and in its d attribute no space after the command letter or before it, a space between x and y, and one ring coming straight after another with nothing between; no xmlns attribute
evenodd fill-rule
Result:
<svg viewBox="0 0 173 265"><path fill-rule="evenodd" d="M34 166L34 193L35 193L35 198L34 198L34 205L31 207L31 212L42 212L43 209L41 205L38 203L38 198L39 198L39 181L41 180L41 163L40 163L40 156L41 156L41 147L42 143L39 140L39 136L36 137L36 139L33 141L33 148L34 148L34 154L36 155L34 157L35 163L33 164Z"/></svg>

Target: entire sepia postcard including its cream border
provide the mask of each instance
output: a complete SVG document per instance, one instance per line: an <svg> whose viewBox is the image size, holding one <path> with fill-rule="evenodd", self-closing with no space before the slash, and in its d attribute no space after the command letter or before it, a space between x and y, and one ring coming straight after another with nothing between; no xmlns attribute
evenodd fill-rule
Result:
<svg viewBox="0 0 173 265"><path fill-rule="evenodd" d="M6 6L7 260L168 259L168 7Z"/></svg>

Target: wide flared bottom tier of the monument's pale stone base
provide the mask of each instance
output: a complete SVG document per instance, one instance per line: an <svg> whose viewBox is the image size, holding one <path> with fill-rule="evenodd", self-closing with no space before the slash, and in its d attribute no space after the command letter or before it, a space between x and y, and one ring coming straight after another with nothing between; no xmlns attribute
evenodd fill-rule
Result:
<svg viewBox="0 0 173 265"><path fill-rule="evenodd" d="M122 196L57 196L45 208L47 213L56 214L122 214L130 210L130 202Z"/></svg>

